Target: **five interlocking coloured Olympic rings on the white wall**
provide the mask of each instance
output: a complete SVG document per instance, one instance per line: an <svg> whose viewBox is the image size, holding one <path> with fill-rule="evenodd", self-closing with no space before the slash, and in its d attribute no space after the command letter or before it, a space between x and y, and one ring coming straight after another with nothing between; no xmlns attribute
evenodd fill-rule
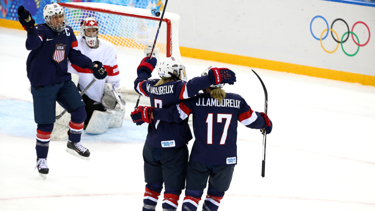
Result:
<svg viewBox="0 0 375 211"><path fill-rule="evenodd" d="M315 37L315 35L312 33L312 29L311 29L312 22L313 22L316 18L322 18L322 19L326 22L326 25L327 25L327 29L323 30L322 34L320 35L320 38ZM334 24L335 24L337 21L342 21L342 22L346 25L346 28L347 28L347 32L345 32L345 33L342 35L342 37L341 37L341 41L339 41L339 39L338 39L338 34L335 32L335 30L333 30L333 26L334 26ZM369 38L368 38L367 42L365 42L364 44L360 44L360 43L359 43L359 39L358 39L357 35L354 34L354 32L353 32L353 29L354 29L354 27L355 27L357 24L363 24L363 25L365 25L366 28L367 28L367 30L369 31ZM322 43L322 41L323 41L324 39L327 38L329 31L331 31L331 35L332 35L332 38L334 39L334 41L337 42L337 46L336 46L335 50L332 50L332 51L328 51L328 50L326 50L326 48L324 48L323 43ZM326 51L327 53L334 53L334 52L338 49L338 46L341 44L341 49L342 49L342 51L343 51L347 56L354 56L354 55L356 55L356 54L358 53L359 47L365 46L365 45L366 45L367 43L369 43L369 41L370 41L370 28L367 26L366 23L364 23L364 22L362 22L362 21L357 21L356 23L354 23L354 25L352 26L352 29L351 29L351 31L350 31L350 30L349 30L349 26L348 26L348 24L346 23L346 21L344 21L344 20L341 19L341 18L337 18L337 19L335 19L335 20L332 22L332 24L331 24L331 28L329 28L327 20L326 20L323 16L317 15L317 16L315 16L315 17L311 20L311 22L310 22L310 32L311 32L312 37L314 37L316 40L320 41L320 45L322 46L323 50ZM323 35L324 35L325 32L327 32L327 33L326 33L326 35L323 37ZM335 38L335 36L334 36L334 33L335 33L336 38ZM355 53L353 53L353 54L348 54L348 53L344 50L344 47L343 47L343 45L342 45L342 43L344 43L344 42L346 42L346 41L348 40L348 38L349 38L349 34L351 34L351 37L352 37L352 39L353 39L353 42L358 46L357 51L356 51ZM346 36L346 38L344 39L345 35L347 35L347 36ZM354 36L355 36L355 38L356 38L357 41L354 40Z"/></svg>

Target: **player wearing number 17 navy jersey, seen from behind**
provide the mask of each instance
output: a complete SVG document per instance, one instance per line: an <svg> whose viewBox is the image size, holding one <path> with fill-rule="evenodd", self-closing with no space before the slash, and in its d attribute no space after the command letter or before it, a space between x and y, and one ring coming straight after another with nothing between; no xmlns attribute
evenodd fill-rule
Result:
<svg viewBox="0 0 375 211"><path fill-rule="evenodd" d="M206 69L202 75L207 75ZM180 123L193 114L195 141L191 149L182 211L196 211L208 181L203 211L217 211L228 190L237 164L237 121L267 134L272 122L264 113L253 111L238 94L225 93L224 84L210 85L193 98L168 109L140 107L146 118L138 122ZM135 118L136 119L136 118ZM137 122L137 121L136 121Z"/></svg>

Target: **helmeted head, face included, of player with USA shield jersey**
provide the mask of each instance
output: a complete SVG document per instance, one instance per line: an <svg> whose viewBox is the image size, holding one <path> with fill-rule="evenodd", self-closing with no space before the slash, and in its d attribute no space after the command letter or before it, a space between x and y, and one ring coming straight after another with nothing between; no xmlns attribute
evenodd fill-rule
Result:
<svg viewBox="0 0 375 211"><path fill-rule="evenodd" d="M62 32L67 26L67 16L65 15L64 8L58 3L45 5L43 16L48 27L55 32Z"/></svg>

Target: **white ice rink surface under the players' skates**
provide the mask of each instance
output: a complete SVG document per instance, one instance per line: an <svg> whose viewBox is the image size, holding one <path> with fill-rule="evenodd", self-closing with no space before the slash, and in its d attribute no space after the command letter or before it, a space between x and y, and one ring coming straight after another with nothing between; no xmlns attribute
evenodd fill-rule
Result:
<svg viewBox="0 0 375 211"><path fill-rule="evenodd" d="M128 98L121 128L82 134L90 161L66 153L66 141L51 141L49 174L38 176L25 41L25 31L0 27L0 211L140 211L147 126L130 120L136 98ZM225 91L263 112L263 88L252 68L187 57L183 63L190 79L210 65L233 70L237 82ZM240 124L238 165L219 210L375 211L375 87L254 70L268 90L274 126L265 177L263 135Z"/></svg>

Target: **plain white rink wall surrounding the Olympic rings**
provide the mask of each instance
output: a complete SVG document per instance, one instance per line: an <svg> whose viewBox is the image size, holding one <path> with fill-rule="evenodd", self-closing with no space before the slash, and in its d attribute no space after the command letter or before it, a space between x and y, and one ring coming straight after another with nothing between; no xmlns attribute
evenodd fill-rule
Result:
<svg viewBox="0 0 375 211"><path fill-rule="evenodd" d="M375 76L375 7L325 0L170 0L166 10L181 16L180 46ZM355 25L353 32L360 44L369 36L370 41L354 56L345 55L341 45L327 53L310 32L317 15L329 28L341 18L350 31L362 21L370 34L363 24ZM325 29L322 18L311 24L315 37ZM347 32L342 21L333 29L339 40ZM327 51L337 46L331 34L322 43ZM349 36L343 48L354 54L358 46Z"/></svg>

